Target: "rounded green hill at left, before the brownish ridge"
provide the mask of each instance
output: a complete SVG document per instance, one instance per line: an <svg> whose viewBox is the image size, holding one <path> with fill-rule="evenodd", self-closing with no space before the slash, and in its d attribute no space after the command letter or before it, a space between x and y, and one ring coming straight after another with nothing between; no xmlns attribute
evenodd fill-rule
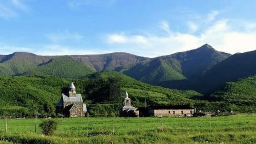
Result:
<svg viewBox="0 0 256 144"><path fill-rule="evenodd" d="M50 60L48 63L38 66L30 71L27 71L24 75L53 75L60 78L79 78L92 74L94 71L88 66L74 60L69 56L62 56Z"/></svg>

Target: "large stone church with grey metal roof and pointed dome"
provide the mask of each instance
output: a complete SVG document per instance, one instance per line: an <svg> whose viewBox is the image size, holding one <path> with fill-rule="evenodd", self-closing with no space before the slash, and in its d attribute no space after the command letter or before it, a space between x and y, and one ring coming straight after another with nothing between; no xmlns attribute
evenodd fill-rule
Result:
<svg viewBox="0 0 256 144"><path fill-rule="evenodd" d="M73 81L71 81L68 89L68 93L62 94L56 105L56 110L62 113L64 117L84 117L87 112L86 105L83 103L81 94L76 94Z"/></svg>

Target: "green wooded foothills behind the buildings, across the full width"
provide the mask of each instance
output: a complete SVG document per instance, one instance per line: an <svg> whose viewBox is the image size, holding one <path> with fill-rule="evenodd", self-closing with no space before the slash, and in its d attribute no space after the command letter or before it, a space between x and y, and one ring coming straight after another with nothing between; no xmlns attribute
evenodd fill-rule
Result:
<svg viewBox="0 0 256 144"><path fill-rule="evenodd" d="M0 115L31 116L39 112L55 116L55 105L70 81L47 75L1 76ZM211 112L256 110L255 76L228 82L218 91L205 96L192 90L152 86L114 71L90 74L81 79L73 79L73 82L92 115L97 115L98 111L100 115L117 113L125 91L129 93L135 107L145 106L146 99L147 105L189 105Z"/></svg>

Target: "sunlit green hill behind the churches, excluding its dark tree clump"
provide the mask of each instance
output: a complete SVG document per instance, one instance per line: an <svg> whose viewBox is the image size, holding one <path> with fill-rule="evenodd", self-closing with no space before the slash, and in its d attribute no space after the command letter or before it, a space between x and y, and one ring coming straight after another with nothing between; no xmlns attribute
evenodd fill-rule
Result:
<svg viewBox="0 0 256 144"><path fill-rule="evenodd" d="M201 94L195 91L178 91L159 86L151 86L121 73L111 71L95 73L83 79L73 79L73 82L76 86L76 91L82 94L86 103L96 103L93 99L87 98L87 87L96 83L98 79L106 80L107 78L113 77L121 80L122 88L120 97L123 98L123 93L127 90L133 100L134 106L143 106L145 98L147 98L149 104L159 103L169 105L190 103L192 100L189 98L201 96ZM28 113L31 114L33 105L35 105L36 111L40 113L54 113L55 104L60 99L62 91L69 86L70 81L70 79L46 75L1 76L0 108L6 110L4 108L6 106L20 106L27 108ZM122 102L120 101L119 103L121 105Z"/></svg>

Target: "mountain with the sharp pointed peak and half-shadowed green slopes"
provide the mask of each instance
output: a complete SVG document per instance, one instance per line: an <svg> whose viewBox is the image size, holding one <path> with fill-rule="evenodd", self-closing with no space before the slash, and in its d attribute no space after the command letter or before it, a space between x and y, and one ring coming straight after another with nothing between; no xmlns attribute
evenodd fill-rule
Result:
<svg viewBox="0 0 256 144"><path fill-rule="evenodd" d="M228 58L230 54L218 52L205 44L194 50L175 53L139 63L124 74L137 80L169 87L190 89L188 83L198 79L215 64Z"/></svg>

